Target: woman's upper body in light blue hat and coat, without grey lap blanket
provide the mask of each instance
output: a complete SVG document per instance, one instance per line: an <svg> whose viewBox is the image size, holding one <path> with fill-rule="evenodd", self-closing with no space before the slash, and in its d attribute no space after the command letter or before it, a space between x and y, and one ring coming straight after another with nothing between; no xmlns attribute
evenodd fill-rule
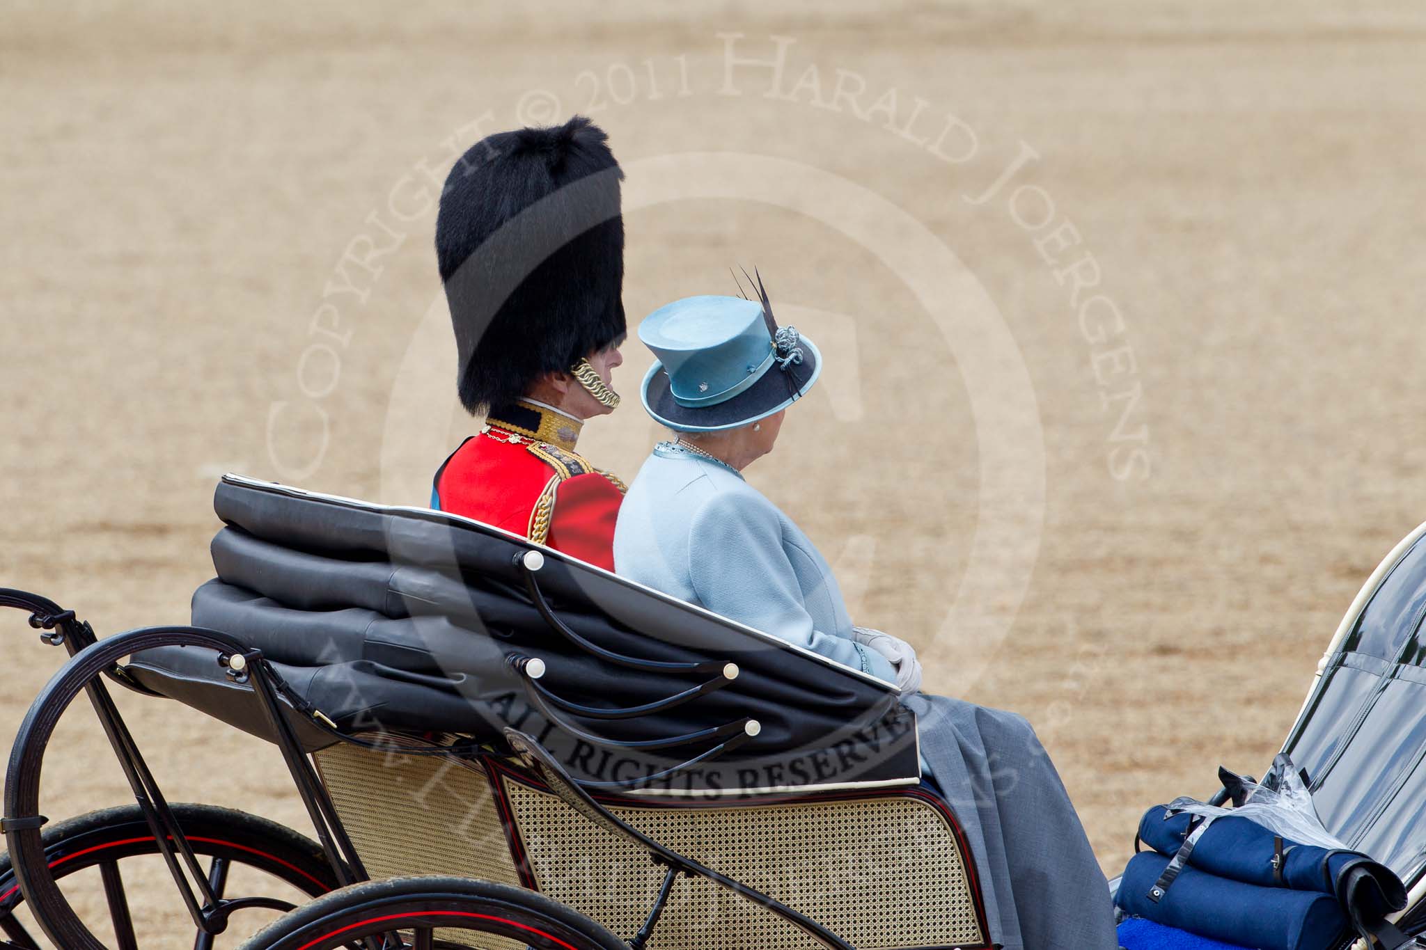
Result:
<svg viewBox="0 0 1426 950"><path fill-rule="evenodd" d="M697 349L710 319L732 333L716 355ZM781 333L781 352L769 346L773 332ZM645 404L679 436L655 446L629 489L615 570L914 691L914 651L854 628L816 546L743 480L742 470L771 451L786 404L816 382L817 348L791 328L771 330L759 303L720 296L670 303L645 320L640 338L660 357ZM766 372L774 363L777 372ZM693 413L674 395L684 380Z"/></svg>

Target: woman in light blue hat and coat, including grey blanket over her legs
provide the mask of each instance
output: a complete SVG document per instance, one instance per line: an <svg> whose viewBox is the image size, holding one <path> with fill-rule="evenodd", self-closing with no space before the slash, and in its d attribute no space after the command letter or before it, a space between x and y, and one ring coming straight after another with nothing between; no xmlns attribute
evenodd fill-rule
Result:
<svg viewBox="0 0 1426 950"><path fill-rule="evenodd" d="M854 627L811 540L743 480L821 353L760 299L694 296L650 313L657 360L643 406L673 439L629 486L615 528L619 574L896 684L917 714L923 769L955 809L1005 950L1114 950L1104 875L1024 718L920 692L908 644Z"/></svg>

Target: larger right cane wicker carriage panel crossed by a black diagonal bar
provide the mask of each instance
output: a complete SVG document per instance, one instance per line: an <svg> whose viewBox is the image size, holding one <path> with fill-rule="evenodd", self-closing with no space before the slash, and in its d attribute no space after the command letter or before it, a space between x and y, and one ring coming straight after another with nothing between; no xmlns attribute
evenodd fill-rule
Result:
<svg viewBox="0 0 1426 950"><path fill-rule="evenodd" d="M625 939L637 933L663 869L556 796L508 776L502 782L539 889ZM613 810L665 846L800 910L858 950L985 943L955 835L943 813L920 798ZM820 944L717 884L680 877L649 946Z"/></svg>

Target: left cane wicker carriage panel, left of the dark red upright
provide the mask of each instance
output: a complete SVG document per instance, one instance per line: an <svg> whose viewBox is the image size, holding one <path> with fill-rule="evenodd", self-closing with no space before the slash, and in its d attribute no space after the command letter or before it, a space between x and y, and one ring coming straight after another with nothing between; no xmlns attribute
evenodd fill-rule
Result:
<svg viewBox="0 0 1426 950"><path fill-rule="evenodd" d="M372 879L404 875L520 879L485 772L455 758L386 755L352 745L315 753L322 782ZM522 950L503 937L436 930L482 950ZM479 943L472 943L479 940Z"/></svg>

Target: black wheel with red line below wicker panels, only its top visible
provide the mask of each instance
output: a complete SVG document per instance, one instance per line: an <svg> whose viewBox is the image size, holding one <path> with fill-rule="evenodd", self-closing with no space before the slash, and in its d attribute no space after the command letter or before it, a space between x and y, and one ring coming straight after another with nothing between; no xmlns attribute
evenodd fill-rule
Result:
<svg viewBox="0 0 1426 950"><path fill-rule="evenodd" d="M399 934L401 944L388 940L386 950L491 946L479 936L535 950L629 950L543 894L469 877L391 877L342 887L268 924L242 950L381 947L391 934Z"/></svg>

